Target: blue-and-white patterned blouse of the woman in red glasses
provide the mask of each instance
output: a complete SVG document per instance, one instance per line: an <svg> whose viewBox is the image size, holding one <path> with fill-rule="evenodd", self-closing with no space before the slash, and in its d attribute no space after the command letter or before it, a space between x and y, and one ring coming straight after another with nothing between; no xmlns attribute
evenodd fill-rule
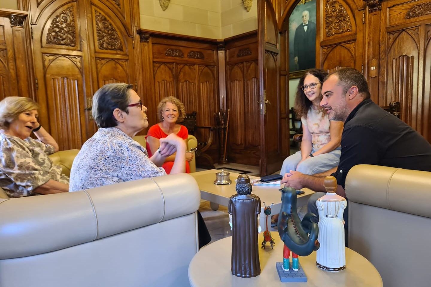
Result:
<svg viewBox="0 0 431 287"><path fill-rule="evenodd" d="M73 161L69 191L162 175L142 145L116 127L100 128Z"/></svg>

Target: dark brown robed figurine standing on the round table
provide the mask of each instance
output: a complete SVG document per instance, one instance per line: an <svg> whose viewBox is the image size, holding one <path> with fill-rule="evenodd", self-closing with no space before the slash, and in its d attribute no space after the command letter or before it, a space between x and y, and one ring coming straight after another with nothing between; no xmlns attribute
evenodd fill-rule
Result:
<svg viewBox="0 0 431 287"><path fill-rule="evenodd" d="M232 215L232 274L249 278L260 274L257 215L260 198L251 194L250 178L238 176L237 194L229 198L228 212Z"/></svg>

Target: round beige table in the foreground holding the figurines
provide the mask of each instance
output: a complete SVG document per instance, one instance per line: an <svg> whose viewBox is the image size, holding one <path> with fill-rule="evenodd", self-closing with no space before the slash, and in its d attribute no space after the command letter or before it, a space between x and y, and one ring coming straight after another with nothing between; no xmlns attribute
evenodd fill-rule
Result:
<svg viewBox="0 0 431 287"><path fill-rule="evenodd" d="M319 269L315 251L309 256L299 257L307 282L281 282L275 262L283 261L283 242L277 232L274 249L259 248L259 276L240 278L231 273L232 237L215 241L202 247L190 262L188 275L191 287L382 287L383 282L377 269L365 257L346 247L346 269L341 272L328 272ZM259 235L259 242L263 235Z"/></svg>

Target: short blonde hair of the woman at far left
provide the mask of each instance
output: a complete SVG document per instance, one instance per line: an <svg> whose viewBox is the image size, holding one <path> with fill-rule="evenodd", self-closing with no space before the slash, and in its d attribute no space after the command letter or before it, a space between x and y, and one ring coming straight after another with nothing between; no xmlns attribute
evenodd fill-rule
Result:
<svg viewBox="0 0 431 287"><path fill-rule="evenodd" d="M22 112L38 110L40 107L37 102L26 97L4 98L0 102L0 128L8 129Z"/></svg>

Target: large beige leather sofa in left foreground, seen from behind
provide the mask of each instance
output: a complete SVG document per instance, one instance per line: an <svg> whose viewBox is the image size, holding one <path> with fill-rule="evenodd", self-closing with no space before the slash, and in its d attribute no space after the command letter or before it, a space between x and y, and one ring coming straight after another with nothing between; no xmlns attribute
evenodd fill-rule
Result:
<svg viewBox="0 0 431 287"><path fill-rule="evenodd" d="M199 204L188 174L0 199L0 286L190 286Z"/></svg>

